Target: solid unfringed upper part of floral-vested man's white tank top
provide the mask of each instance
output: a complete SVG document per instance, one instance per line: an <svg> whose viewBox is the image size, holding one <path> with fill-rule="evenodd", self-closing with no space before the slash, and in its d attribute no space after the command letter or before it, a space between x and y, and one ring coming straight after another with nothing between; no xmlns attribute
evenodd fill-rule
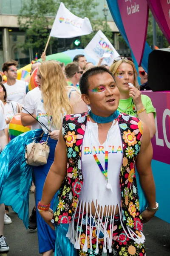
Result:
<svg viewBox="0 0 170 256"><path fill-rule="evenodd" d="M94 151L92 151L91 148L90 133ZM84 177L84 183L79 200L86 202L96 202L97 200L98 204L102 207L105 205L116 205L121 201L119 174L122 166L123 149L118 122L116 122L115 125L112 124L108 134L108 142L105 141L103 144L100 144L98 139L98 125L97 123L93 123L89 120L87 122L82 144L82 174ZM106 177L103 175L94 159L94 154L96 154L103 169L105 170L105 151L107 150L108 183L111 184L113 193L110 189L107 189ZM91 172L91 170L93 170L93 172ZM93 183L95 177L97 177L97 179L95 183Z"/></svg>

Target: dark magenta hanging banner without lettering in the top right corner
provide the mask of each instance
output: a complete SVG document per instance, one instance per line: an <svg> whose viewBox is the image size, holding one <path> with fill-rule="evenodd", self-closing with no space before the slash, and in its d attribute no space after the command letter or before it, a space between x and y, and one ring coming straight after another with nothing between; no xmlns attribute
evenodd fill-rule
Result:
<svg viewBox="0 0 170 256"><path fill-rule="evenodd" d="M147 0L152 14L170 43L170 0Z"/></svg>

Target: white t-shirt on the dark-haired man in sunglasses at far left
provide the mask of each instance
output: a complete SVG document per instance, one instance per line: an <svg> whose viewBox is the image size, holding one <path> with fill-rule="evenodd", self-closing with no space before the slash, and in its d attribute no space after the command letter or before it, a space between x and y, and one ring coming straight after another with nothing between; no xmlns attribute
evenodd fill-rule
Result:
<svg viewBox="0 0 170 256"><path fill-rule="evenodd" d="M26 82L17 80L14 85L8 85L7 82L4 84L6 87L7 100L23 103L23 97L26 92Z"/></svg>

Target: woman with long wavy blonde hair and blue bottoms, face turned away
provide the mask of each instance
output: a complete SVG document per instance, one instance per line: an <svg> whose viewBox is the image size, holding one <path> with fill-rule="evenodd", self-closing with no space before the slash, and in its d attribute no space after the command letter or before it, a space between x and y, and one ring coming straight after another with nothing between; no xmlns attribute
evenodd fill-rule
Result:
<svg viewBox="0 0 170 256"><path fill-rule="evenodd" d="M42 99L37 107L37 118L51 132L48 143L50 153L47 164L34 168L36 186L36 208L42 197L42 189L45 178L54 161L54 151L59 138L59 129L65 114L88 111L82 102L81 95L73 87L67 87L67 82L57 61L45 61L38 67L36 82L42 93ZM83 104L84 103L84 104ZM46 141L48 130L42 126L44 135L41 141ZM62 159L61 159L62 160ZM55 198L56 196L54 196ZM51 201L53 209L54 198ZM37 213L39 251L42 256L51 256L55 248L55 231Z"/></svg>

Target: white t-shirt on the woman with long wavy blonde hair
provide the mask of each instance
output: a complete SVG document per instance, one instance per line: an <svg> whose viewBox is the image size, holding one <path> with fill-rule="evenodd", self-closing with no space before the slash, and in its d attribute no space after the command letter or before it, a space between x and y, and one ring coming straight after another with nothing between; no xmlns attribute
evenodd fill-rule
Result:
<svg viewBox="0 0 170 256"><path fill-rule="evenodd" d="M37 117L38 117L38 121L43 123L51 131L59 130L61 128L61 127L54 127L54 125L51 126L52 116L50 114L48 115L47 111L45 111L42 99L40 99L38 103ZM61 119L63 119L62 115L61 115ZM45 132L45 134L48 134L48 130L45 129L43 125L41 125L41 128Z"/></svg>

